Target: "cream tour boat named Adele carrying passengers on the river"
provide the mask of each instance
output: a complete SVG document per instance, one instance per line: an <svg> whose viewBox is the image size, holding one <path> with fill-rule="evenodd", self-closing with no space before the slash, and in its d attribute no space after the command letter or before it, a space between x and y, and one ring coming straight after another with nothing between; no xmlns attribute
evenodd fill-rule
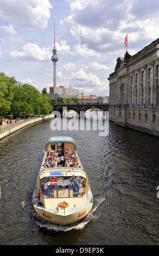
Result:
<svg viewBox="0 0 159 256"><path fill-rule="evenodd" d="M48 156L56 167L49 165ZM54 224L68 225L88 215L93 206L93 194L73 138L48 138L32 200L36 213Z"/></svg>

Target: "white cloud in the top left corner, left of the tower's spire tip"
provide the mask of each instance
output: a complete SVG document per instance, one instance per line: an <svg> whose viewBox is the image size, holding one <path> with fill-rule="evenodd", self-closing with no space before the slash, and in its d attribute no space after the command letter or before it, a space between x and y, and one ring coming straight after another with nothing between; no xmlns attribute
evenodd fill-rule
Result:
<svg viewBox="0 0 159 256"><path fill-rule="evenodd" d="M0 16L13 26L46 28L51 8L48 0L1 0Z"/></svg>

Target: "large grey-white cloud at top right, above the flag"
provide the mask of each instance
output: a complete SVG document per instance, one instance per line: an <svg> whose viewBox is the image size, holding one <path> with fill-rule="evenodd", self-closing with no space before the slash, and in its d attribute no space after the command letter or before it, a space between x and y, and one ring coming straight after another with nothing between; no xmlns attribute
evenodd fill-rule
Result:
<svg viewBox="0 0 159 256"><path fill-rule="evenodd" d="M145 44L155 40L159 33L158 15L157 0L139 4L137 0L75 0L70 2L70 15L60 23L71 27L70 32L80 45L99 54L125 49L126 33L130 34L132 48L139 40Z"/></svg>

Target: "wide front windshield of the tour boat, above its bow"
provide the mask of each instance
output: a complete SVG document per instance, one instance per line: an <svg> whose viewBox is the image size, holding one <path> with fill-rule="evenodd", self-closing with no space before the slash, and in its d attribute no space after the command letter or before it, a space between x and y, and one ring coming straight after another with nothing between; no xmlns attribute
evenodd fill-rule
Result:
<svg viewBox="0 0 159 256"><path fill-rule="evenodd" d="M52 176L40 181L42 196L45 198L83 197L85 194L85 178L82 176Z"/></svg>

